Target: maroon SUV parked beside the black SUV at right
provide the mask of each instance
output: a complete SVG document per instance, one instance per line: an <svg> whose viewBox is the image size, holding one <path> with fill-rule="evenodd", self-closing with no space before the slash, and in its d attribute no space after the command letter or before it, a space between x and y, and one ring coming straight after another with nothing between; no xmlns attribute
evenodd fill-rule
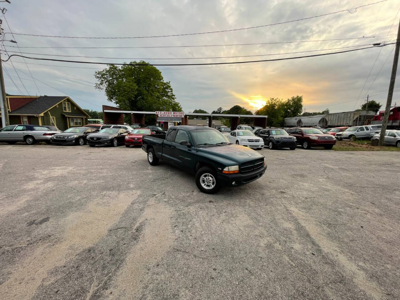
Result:
<svg viewBox="0 0 400 300"><path fill-rule="evenodd" d="M304 149L310 149L311 147L332 149L333 145L336 144L334 136L325 134L316 128L290 128L286 132L291 136L295 136L297 144Z"/></svg>

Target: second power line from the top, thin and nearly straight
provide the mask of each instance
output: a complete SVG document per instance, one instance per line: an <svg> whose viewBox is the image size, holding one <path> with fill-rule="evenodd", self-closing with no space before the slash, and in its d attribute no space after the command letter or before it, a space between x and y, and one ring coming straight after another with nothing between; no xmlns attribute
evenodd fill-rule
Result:
<svg viewBox="0 0 400 300"><path fill-rule="evenodd" d="M392 34L390 36L396 36ZM383 36L363 36L359 38L331 38L326 40L300 40L300 41L290 41L290 42L267 42L267 43L246 43L246 44L214 44L214 45L184 45L184 46L132 46L132 47L36 47L36 46L26 46L19 48L36 48L36 49L137 49L137 48L189 48L189 47L225 47L225 46L248 46L248 45L272 45L272 44L291 44L291 43L308 43L308 42L327 42L327 41L340 41L340 40L358 40L364 38L381 38ZM17 48L17 46L8 46Z"/></svg>

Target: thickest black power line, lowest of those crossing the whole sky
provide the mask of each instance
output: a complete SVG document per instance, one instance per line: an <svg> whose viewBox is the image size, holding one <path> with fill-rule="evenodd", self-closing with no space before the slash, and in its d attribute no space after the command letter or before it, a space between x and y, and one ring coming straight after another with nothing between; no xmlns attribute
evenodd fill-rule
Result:
<svg viewBox="0 0 400 300"><path fill-rule="evenodd" d="M384 45L380 45L379 47L384 47L384 46L393 45L393 44L396 44L396 43L384 44ZM12 58L13 56L16 56L16 57L29 58L29 59L33 59L33 60L49 60L49 61L54 61L54 62L74 62L74 63L79 63L79 64L110 64L110 65L116 65L116 66L122 66L122 65L130 65L130 66L208 66L208 65L220 65L220 64L248 64L251 62L273 62L273 61L279 61L279 60L292 60L292 59L298 59L298 58L307 58L307 57L316 57L316 56L325 56L325 55L353 52L353 51L359 51L359 50L370 49L370 48L376 48L376 46L344 50L344 51L338 51L338 52L313 54L313 55L306 55L306 56L274 58L274 59L268 59L268 60L248 60L248 61L239 61L239 62L204 62L204 63L197 63L197 64L148 64L148 63L135 63L135 64L122 63L121 64L121 63L112 63L112 62L84 62L84 61L77 61L77 60L60 60L60 59L54 59L54 58L30 57L30 56L23 56L23 55L18 55L18 54L10 55L6 60L3 60L3 62L7 62L8 60L10 60L10 58Z"/></svg>

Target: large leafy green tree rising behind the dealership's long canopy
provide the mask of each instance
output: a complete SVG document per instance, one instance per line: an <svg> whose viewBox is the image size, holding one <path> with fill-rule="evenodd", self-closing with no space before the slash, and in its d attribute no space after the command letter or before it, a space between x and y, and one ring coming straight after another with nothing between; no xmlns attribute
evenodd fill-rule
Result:
<svg viewBox="0 0 400 300"><path fill-rule="evenodd" d="M144 61L138 63L144 65L108 65L108 68L96 71L94 77L98 82L95 88L104 90L108 101L123 110L156 111L164 110L165 106L165 110L182 111L170 82L164 81L161 72Z"/></svg>

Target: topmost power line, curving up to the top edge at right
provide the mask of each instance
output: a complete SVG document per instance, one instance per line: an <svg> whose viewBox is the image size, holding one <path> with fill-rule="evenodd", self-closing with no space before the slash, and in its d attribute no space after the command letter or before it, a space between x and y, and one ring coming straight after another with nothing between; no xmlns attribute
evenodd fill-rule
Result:
<svg viewBox="0 0 400 300"><path fill-rule="evenodd" d="M254 28L262 28L262 27L267 27L267 26L287 24L287 23L298 22L298 21L303 21L303 20L310 20L310 19L313 19L313 18L320 18L320 17L323 17L323 16L329 16L329 15L338 14L338 13L341 13L341 12L348 12L350 14L354 14L357 11L358 8L366 7L366 6L370 6L370 5L373 5L373 4L378 4L378 3L386 2L386 1L387 0L381 0L381 1L378 1L378 2L374 2L374 3L357 6L356 8L348 8L348 9L344 9L344 10L339 10L337 12L330 12L330 13L327 13L327 14L320 14L318 16L312 16L312 17L308 17L308 18L301 18L301 19L296 19L296 20L291 20L291 21L272 23L272 24L267 24L267 25L251 26L251 27L236 28L236 29L229 29L229 30L216 30L216 31L207 31L207 32L185 33L185 34L168 34L168 35L158 35L158 36L134 36L134 37L82 37L82 36L50 36L50 35L26 34L26 33L14 33L14 34L24 35L24 36L50 37L50 38L90 38L90 39L133 39L133 38L165 38L165 37L171 37L171 36L190 36L190 35L197 35L197 34L211 34L211 33L232 32L232 31L238 31L238 30L248 30L248 29L254 29ZM354 10L354 12L350 12L350 10ZM7 33L12 33L12 32L7 32Z"/></svg>

